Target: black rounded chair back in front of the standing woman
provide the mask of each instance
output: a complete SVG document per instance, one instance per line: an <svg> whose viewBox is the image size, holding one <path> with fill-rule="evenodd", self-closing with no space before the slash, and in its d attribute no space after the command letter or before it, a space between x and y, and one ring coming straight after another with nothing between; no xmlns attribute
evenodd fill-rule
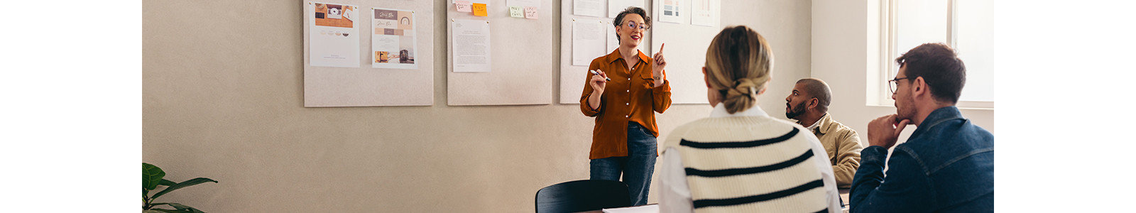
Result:
<svg viewBox="0 0 1136 213"><path fill-rule="evenodd" d="M536 213L586 212L632 205L627 184L615 180L575 180L536 191Z"/></svg>

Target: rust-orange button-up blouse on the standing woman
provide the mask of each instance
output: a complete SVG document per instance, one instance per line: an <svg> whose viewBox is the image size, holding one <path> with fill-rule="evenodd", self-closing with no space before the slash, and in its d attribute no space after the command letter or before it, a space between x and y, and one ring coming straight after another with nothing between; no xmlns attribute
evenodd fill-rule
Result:
<svg viewBox="0 0 1136 213"><path fill-rule="evenodd" d="M627 156L627 123L638 122L659 137L659 127L654 123L654 112L662 113L670 108L670 82L663 79L662 86L654 87L654 76L651 74L651 58L638 52L640 62L630 70L619 50L612 51L592 60L588 70L603 70L610 82L603 88L600 97L600 109L592 110L587 97L592 96L592 79L588 73L584 78L584 94L579 97L579 110L584 116L595 117L595 128L592 129L592 152L588 159ZM658 152L658 151L655 151Z"/></svg>

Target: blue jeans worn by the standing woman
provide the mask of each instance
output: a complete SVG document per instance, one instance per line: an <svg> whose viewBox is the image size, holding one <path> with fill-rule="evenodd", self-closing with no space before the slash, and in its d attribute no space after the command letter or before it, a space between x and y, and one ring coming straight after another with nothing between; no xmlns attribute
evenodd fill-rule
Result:
<svg viewBox="0 0 1136 213"><path fill-rule="evenodd" d="M627 156L593 159L593 180L619 180L624 174L624 184L630 195L632 205L646 205L648 190L651 189L651 176L654 174L654 160L658 156L657 138L637 122L627 123Z"/></svg>

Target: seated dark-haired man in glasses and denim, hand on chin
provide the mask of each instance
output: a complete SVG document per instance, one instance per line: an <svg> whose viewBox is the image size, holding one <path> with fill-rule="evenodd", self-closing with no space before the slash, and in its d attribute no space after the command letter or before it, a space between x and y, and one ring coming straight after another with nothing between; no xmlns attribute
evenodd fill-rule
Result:
<svg viewBox="0 0 1136 213"><path fill-rule="evenodd" d="M896 113L868 123L851 212L994 212L994 135L954 107L967 79L962 60L945 44L927 43L895 62L900 71L888 86ZM909 123L917 129L895 145Z"/></svg>

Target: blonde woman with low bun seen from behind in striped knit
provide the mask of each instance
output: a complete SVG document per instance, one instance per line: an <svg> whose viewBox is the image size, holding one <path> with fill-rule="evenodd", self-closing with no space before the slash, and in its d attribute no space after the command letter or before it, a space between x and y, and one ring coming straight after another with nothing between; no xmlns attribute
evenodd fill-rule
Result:
<svg viewBox="0 0 1136 213"><path fill-rule="evenodd" d="M661 212L841 211L820 140L758 108L772 60L766 39L749 27L715 36L702 68L713 111L665 140Z"/></svg>

